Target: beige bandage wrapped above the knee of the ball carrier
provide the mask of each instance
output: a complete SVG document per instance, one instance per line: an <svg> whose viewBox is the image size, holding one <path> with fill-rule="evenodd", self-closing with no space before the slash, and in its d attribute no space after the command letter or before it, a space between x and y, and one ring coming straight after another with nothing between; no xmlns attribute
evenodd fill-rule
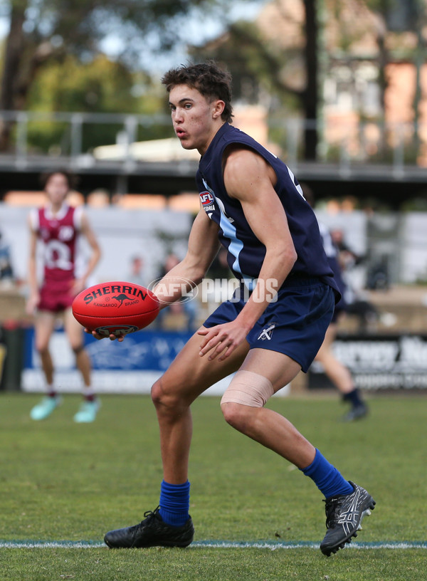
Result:
<svg viewBox="0 0 427 581"><path fill-rule="evenodd" d="M263 407L273 395L270 380L252 371L238 371L221 399L221 404L234 402L251 407Z"/></svg>

